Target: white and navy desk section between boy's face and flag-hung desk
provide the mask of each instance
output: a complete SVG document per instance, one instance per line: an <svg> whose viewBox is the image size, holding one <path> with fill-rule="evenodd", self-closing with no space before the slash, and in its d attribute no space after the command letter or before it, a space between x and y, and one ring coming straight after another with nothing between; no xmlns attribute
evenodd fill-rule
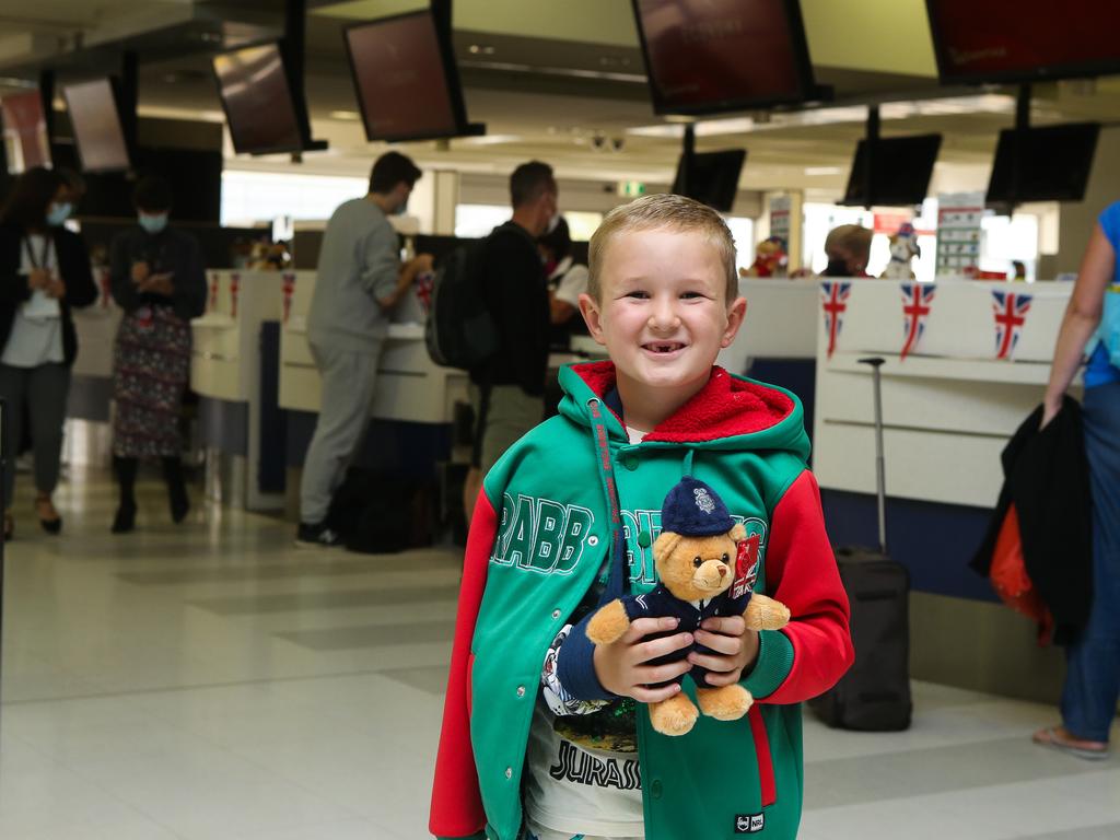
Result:
<svg viewBox="0 0 1120 840"><path fill-rule="evenodd" d="M813 429L820 283L815 279L740 278L747 316L718 363L731 373L788 389Z"/></svg>

